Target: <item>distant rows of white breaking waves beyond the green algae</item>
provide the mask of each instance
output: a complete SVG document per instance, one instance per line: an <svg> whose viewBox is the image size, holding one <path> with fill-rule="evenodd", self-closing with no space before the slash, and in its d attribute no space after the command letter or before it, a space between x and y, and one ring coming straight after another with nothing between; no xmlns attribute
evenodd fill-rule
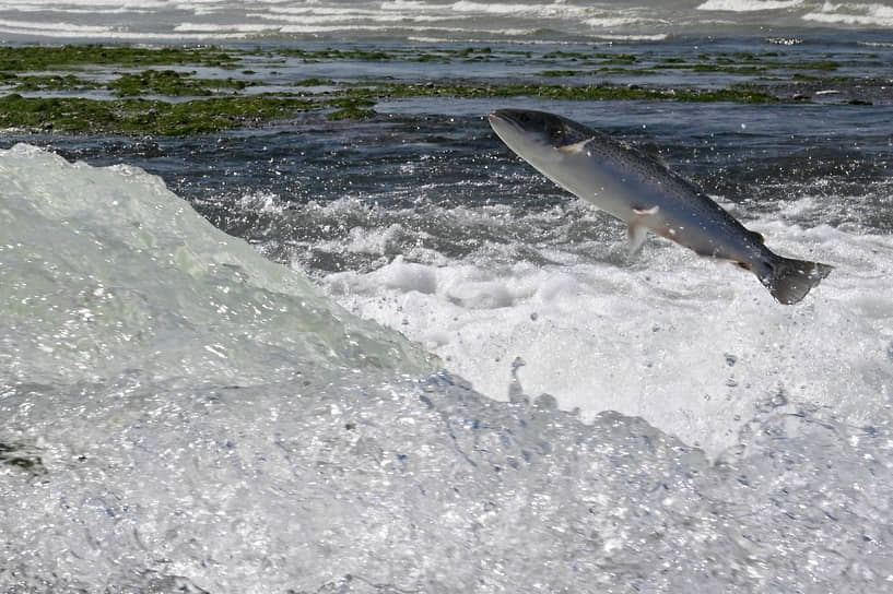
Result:
<svg viewBox="0 0 893 594"><path fill-rule="evenodd" d="M64 4L42 0L16 0L0 7L0 17L8 23L0 31L30 38L95 39L106 32L110 39L208 40L243 39L258 36L302 37L343 32L362 39L369 35L395 38L481 39L487 33L495 40L509 38L519 43L561 41L575 38L616 40L659 40L668 28L674 33L697 32L705 27L728 26L710 13L748 14L747 23L755 27L799 24L800 26L839 24L849 27L877 28L893 22L891 9L883 3L834 3L815 5L807 0L704 0L690 9L678 5L630 5L609 2L597 5L555 2L427 2L393 0L384 2L291 2L269 1L240 3L232 0L200 2L115 2L71 0ZM16 15L28 19L17 22ZM785 22L779 23L779 14ZM96 23L91 15L95 15ZM70 20L67 17L69 16ZM395 25L427 23L431 35L418 35L412 26L360 28L360 21ZM289 28L265 28L269 23L285 23ZM102 24L98 24L102 23ZM184 27L188 23L188 28ZM46 24L46 27L35 26ZM319 25L319 28L314 25ZM342 28L339 28L343 25ZM107 27L92 29L90 27ZM608 35L601 32L608 32Z"/></svg>

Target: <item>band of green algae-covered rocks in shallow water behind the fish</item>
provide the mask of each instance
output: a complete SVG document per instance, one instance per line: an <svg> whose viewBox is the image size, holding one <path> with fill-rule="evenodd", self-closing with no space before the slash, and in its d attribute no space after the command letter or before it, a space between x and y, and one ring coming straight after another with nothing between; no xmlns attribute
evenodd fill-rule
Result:
<svg viewBox="0 0 893 594"><path fill-rule="evenodd" d="M653 51L595 48L538 55L437 46L3 47L0 88L12 94L0 98L0 126L44 132L184 135L262 126L306 111L321 111L331 120L368 119L377 117L374 107L378 102L404 98L802 103L810 98L785 81L831 81L815 73L843 66L825 57L813 61L790 58L772 51L702 54L683 59ZM529 63L529 71L496 82L480 76L396 81L381 74L331 79L325 68L303 72L308 64L327 62L465 64L498 60ZM280 69L294 71L294 80L283 78ZM277 82L266 81L265 72ZM684 78L674 72L684 73ZM702 73L706 75L698 78ZM612 75L623 76L625 84L609 82ZM669 82L639 84L637 79L646 76L651 82L669 78ZM556 82L565 84L552 84ZM844 82L842 78L841 84ZM257 94L261 86L265 93ZM847 100L855 105L851 99L860 98L871 99L857 95Z"/></svg>

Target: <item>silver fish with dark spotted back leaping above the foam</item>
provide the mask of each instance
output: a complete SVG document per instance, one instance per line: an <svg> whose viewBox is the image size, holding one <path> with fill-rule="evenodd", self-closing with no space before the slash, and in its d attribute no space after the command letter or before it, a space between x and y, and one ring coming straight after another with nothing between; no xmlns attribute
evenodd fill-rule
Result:
<svg viewBox="0 0 893 594"><path fill-rule="evenodd" d="M796 304L832 266L784 258L681 176L603 132L544 111L498 109L490 126L545 177L625 222L636 253L648 231L753 272L782 304Z"/></svg>

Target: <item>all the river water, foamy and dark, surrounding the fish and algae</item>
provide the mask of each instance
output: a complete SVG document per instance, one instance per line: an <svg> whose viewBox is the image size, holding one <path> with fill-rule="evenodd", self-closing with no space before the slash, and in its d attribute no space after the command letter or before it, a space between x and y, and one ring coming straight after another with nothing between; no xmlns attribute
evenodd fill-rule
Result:
<svg viewBox="0 0 893 594"><path fill-rule="evenodd" d="M12 43L491 48L284 80L541 80L563 50L774 54L866 82L809 104L395 99L188 139L5 132L0 591L884 591L890 10L4 4ZM628 258L618 222L492 133L516 106L659 152L835 270L782 306L662 239Z"/></svg>

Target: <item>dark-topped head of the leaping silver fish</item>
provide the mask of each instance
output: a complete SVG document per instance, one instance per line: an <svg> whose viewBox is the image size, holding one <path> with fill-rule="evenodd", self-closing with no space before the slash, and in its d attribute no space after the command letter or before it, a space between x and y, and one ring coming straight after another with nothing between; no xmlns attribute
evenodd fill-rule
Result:
<svg viewBox="0 0 893 594"><path fill-rule="evenodd" d="M497 109L487 119L496 135L522 157L574 146L594 135L585 126L545 111Z"/></svg>

